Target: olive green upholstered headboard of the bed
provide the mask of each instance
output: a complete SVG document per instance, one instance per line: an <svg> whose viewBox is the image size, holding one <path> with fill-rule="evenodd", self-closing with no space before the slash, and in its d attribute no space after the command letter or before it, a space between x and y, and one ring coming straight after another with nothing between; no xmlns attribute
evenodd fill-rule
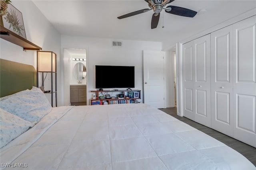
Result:
<svg viewBox="0 0 256 170"><path fill-rule="evenodd" d="M34 66L0 59L0 97L36 86Z"/></svg>

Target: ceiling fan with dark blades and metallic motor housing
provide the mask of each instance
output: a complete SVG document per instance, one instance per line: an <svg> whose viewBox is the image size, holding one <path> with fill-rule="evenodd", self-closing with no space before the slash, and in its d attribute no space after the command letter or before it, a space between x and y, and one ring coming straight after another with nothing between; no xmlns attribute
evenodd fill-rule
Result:
<svg viewBox="0 0 256 170"><path fill-rule="evenodd" d="M187 9L187 8L182 8L179 6L166 6L166 4L169 4L171 2L173 2L174 0L145 0L146 2L148 2L148 8L146 9L142 9L142 10L138 10L135 12L131 12L129 14L125 14L122 16L119 16L118 19L123 19L123 18L127 18L130 16L135 16L137 14L142 14L144 12L148 12L150 10L154 11L154 14L152 15L152 19L151 19L151 29L154 29L157 27L158 25L158 21L160 18L160 12L164 9L165 12L170 13L170 14L174 14L174 15L178 15L178 16L184 16L184 17L191 17L193 18L196 15L196 11Z"/></svg>

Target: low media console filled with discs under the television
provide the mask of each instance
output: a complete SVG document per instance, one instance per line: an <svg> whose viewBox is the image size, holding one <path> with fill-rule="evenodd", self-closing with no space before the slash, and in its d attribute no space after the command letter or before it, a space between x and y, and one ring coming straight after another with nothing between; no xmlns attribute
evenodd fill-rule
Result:
<svg viewBox="0 0 256 170"><path fill-rule="evenodd" d="M141 90L91 90L90 92L96 94L96 99L90 99L90 105L103 105L105 102L107 104L128 104L136 103L138 99L141 99L140 92ZM108 95L108 98L106 96ZM121 94L118 98L118 94ZM104 96L104 99L102 97ZM106 104L106 103L105 103Z"/></svg>

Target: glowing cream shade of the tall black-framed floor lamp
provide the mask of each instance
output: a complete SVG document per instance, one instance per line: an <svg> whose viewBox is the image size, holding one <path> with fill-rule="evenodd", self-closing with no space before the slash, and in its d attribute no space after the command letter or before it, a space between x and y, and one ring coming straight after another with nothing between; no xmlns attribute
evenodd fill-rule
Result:
<svg viewBox="0 0 256 170"><path fill-rule="evenodd" d="M52 51L37 51L37 71L56 72L56 54Z"/></svg>

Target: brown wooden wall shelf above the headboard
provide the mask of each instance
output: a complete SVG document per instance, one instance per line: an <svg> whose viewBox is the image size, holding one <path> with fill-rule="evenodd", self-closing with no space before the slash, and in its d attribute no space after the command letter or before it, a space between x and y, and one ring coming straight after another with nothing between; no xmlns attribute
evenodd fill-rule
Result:
<svg viewBox="0 0 256 170"><path fill-rule="evenodd" d="M2 39L5 39L7 41L10 41L11 43L14 43L16 45L19 45L20 47L23 47L23 50L42 50L41 47L35 45L34 43L31 43L30 41L24 39L20 35L17 35L16 33L6 29L2 25L0 25L0 37Z"/></svg>

